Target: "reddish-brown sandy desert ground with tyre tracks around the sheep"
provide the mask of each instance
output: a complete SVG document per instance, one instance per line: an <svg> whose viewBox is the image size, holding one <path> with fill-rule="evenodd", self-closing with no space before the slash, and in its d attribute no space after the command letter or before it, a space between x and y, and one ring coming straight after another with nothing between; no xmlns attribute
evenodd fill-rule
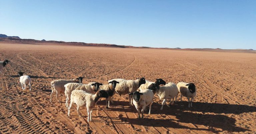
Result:
<svg viewBox="0 0 256 134"><path fill-rule="evenodd" d="M0 43L0 61L11 61L0 74L0 133L256 133L256 54L166 49ZM32 79L22 90L17 72ZM193 82L197 96L160 110L154 97L151 114L138 119L128 95L114 95L109 109L101 99L87 122L76 106L67 116L65 96L50 102L50 82L86 77L83 83L107 84L114 78L145 77L167 83ZM169 101L167 101L169 104Z"/></svg>

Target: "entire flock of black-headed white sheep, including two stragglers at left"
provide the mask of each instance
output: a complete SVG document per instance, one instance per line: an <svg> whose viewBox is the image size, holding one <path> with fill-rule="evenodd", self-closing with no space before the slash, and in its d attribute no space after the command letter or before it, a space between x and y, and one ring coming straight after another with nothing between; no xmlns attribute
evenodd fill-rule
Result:
<svg viewBox="0 0 256 134"><path fill-rule="evenodd" d="M0 62L0 72L2 73L3 67L10 61L5 60ZM20 83L22 89L25 90L26 85L29 85L29 90L31 91L31 79L27 75L23 75L23 72L18 72L20 76ZM149 113L151 113L151 105L153 103L154 94L156 93L162 102L161 110L163 109L166 100L170 100L170 104L174 104L177 101L177 96L180 92L181 101L182 96L188 98L188 107L192 107L192 101L196 96L196 87L193 83L179 82L177 85L175 83L166 82L163 79L156 79L155 82L150 82L145 80L145 78L139 78L136 80L125 80L125 79L112 79L109 80L107 85L103 85L98 82L90 82L88 84L82 84L84 77L78 77L71 80L54 80L51 82L51 99L53 93L56 93L58 101L59 94L65 94L66 96L66 107L68 107L68 116L70 115L71 106L75 103L77 105L77 112L81 116L79 109L81 107L87 108L88 122L92 120L92 110L99 98L106 98L106 107L110 107L110 101L113 104L112 97L115 93L121 95L129 94L129 105L134 105L138 111L138 116L143 118L144 110L146 106L149 106ZM24 86L24 87L23 87ZM191 100L190 100L191 98ZM70 99L70 105L68 106L68 101ZM172 103L171 103L172 99ZM170 107L169 105L167 105Z"/></svg>

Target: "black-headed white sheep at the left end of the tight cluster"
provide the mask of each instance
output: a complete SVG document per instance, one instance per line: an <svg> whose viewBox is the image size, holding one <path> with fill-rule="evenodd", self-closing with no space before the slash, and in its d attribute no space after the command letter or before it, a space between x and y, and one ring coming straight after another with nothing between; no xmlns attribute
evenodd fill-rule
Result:
<svg viewBox="0 0 256 134"><path fill-rule="evenodd" d="M52 96L53 92L56 93L56 97L58 99L58 102L60 102L59 99L59 94L65 94L65 87L64 85L67 83L79 83L79 81L82 82L83 77L78 77L76 79L71 79L71 80L54 80L51 82L51 88L52 88L52 93L51 93L51 99L50 102L52 102Z"/></svg>

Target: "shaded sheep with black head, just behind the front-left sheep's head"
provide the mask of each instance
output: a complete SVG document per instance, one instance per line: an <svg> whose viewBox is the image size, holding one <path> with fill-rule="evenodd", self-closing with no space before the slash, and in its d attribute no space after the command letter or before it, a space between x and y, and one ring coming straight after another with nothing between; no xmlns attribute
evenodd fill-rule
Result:
<svg viewBox="0 0 256 134"><path fill-rule="evenodd" d="M111 101L111 103L113 104L113 100L112 100L112 96L115 94L115 88L116 88L116 84L119 83L115 80L110 81L109 84L111 85L102 85L100 86L101 90L105 90L108 93L108 98L106 99L106 103L107 103L107 108L109 108L109 102Z"/></svg>

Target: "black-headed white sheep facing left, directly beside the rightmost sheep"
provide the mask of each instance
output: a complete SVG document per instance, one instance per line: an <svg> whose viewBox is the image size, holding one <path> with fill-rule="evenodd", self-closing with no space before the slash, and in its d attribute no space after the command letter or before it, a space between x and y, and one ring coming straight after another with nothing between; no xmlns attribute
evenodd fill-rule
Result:
<svg viewBox="0 0 256 134"><path fill-rule="evenodd" d="M175 83L169 82L168 84L163 86L159 86L158 84L152 83L149 86L149 89L151 89L153 86L155 86L156 88L155 91L156 91L156 94L159 96L159 98L163 99L162 107L160 108L160 110L163 110L163 106L164 104L166 104L167 99L170 99L170 103L171 103L171 99L173 99L171 104L174 104L174 97L176 98L176 101L177 101L177 96L179 92ZM167 106L170 107L169 105Z"/></svg>

